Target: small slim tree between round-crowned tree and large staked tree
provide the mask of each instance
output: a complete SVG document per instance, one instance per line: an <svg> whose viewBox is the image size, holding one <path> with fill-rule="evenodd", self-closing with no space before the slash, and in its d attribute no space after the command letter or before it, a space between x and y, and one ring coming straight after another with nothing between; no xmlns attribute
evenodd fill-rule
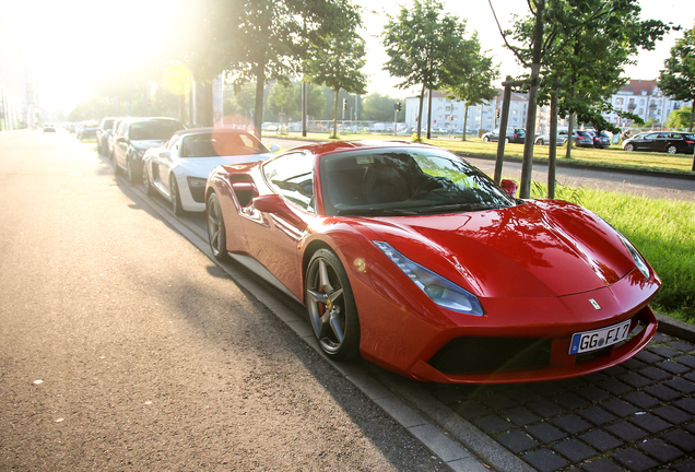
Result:
<svg viewBox="0 0 695 472"><path fill-rule="evenodd" d="M459 70L459 74L453 74L452 79L458 80L456 85L444 90L449 98L464 102L463 111L463 135L461 141L466 141L466 130L468 129L468 108L472 105L480 105L491 101L497 95L497 88L492 84L499 76L499 69L493 66L492 58L480 54L480 42L478 33L469 42L470 60L468 67Z"/></svg>

